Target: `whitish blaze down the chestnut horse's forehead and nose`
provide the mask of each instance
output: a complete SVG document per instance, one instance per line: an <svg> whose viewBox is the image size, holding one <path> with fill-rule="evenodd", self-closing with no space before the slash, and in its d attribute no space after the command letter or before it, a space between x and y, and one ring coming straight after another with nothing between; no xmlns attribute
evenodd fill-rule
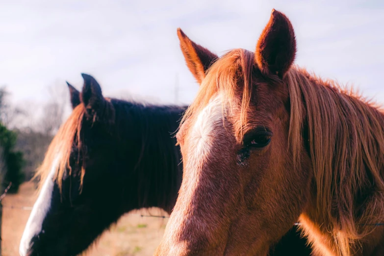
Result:
<svg viewBox="0 0 384 256"><path fill-rule="evenodd" d="M186 205L191 205L195 190L201 185L201 177L203 166L212 152L212 149L217 142L219 134L225 133L223 122L223 102L222 95L218 94L211 98L208 104L198 114L195 123L189 128L185 139L188 148L186 149L185 170L183 183L181 184L178 202L170 216L166 233L173 240L172 247L168 255L179 255L185 252L188 244L179 240L180 224L193 222L195 216L190 215L190 208ZM184 156L183 156L184 157ZM188 182L185 182L187 180ZM206 223L196 221L197 230L206 230Z"/></svg>

